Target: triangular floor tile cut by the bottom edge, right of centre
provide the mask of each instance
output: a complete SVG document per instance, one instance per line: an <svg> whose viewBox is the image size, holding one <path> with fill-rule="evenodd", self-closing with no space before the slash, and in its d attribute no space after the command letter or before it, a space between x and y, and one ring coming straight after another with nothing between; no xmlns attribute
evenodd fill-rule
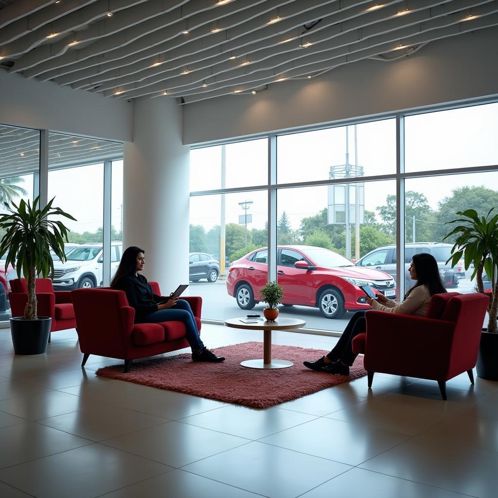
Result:
<svg viewBox="0 0 498 498"><path fill-rule="evenodd" d="M367 470L351 469L299 498L465 498L467 495Z"/></svg>

